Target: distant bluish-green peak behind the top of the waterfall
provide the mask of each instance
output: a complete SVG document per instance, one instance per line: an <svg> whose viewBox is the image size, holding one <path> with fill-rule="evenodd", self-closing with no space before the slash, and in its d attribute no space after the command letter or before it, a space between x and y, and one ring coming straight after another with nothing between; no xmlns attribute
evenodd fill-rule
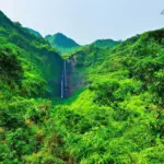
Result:
<svg viewBox="0 0 164 164"><path fill-rule="evenodd" d="M55 35L47 35L45 38L52 47L58 49L61 54L70 52L80 46L73 39L65 36L61 33L57 33Z"/></svg>

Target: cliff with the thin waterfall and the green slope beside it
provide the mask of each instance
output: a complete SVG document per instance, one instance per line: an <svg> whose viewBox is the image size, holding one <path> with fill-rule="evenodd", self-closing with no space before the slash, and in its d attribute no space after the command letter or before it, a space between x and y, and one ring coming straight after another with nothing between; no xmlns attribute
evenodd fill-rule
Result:
<svg viewBox="0 0 164 164"><path fill-rule="evenodd" d="M61 97L70 97L86 86L90 83L89 77L108 58L112 48L87 45L66 56L62 63Z"/></svg>

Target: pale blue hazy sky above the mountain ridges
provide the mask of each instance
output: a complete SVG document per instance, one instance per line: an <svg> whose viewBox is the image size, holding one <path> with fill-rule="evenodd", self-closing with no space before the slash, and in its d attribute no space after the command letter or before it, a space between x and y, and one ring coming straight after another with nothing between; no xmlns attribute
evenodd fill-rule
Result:
<svg viewBox="0 0 164 164"><path fill-rule="evenodd" d="M164 26L164 0L0 0L0 10L44 36L61 32L79 44Z"/></svg>

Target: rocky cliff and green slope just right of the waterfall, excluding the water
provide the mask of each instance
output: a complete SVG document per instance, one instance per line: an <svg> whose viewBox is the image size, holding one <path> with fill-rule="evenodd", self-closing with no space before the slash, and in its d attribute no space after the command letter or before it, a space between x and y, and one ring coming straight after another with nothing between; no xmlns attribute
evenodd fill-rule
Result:
<svg viewBox="0 0 164 164"><path fill-rule="evenodd" d="M99 42L98 45L91 44L81 46L63 56L66 60L67 92L69 96L90 83L90 73L108 59L109 51L120 44L120 42L110 39L109 42Z"/></svg>

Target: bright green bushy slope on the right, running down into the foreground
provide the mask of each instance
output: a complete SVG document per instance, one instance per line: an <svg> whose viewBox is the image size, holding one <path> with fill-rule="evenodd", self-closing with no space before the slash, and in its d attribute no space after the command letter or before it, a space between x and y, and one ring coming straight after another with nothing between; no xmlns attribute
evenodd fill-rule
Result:
<svg viewBox="0 0 164 164"><path fill-rule="evenodd" d="M164 163L163 38L162 28L122 42L56 107L51 128L72 163Z"/></svg>

